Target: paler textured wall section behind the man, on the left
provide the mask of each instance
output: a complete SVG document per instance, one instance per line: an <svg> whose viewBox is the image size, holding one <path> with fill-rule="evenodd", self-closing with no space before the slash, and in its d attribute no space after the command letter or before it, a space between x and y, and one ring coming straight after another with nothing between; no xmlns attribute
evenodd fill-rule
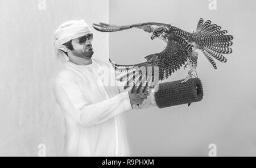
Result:
<svg viewBox="0 0 256 168"><path fill-rule="evenodd" d="M38 156L39 144L46 145L46 156L61 155L64 120L52 86L62 64L53 32L73 19L108 22L105 0L45 2L46 10L39 10L43 0L0 0L0 156ZM94 57L108 59L108 35L92 31Z"/></svg>

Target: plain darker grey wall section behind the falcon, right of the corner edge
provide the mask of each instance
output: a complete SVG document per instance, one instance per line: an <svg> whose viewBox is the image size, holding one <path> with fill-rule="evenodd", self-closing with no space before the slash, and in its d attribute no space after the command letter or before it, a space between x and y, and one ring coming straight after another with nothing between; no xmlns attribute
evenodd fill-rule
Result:
<svg viewBox="0 0 256 168"><path fill-rule="evenodd" d="M217 0L109 1L110 23L169 23L192 32L200 18L210 19L234 35L228 62L214 70L202 53L197 74L203 81L204 99L190 107L148 108L126 114L133 156L208 156L209 144L217 156L256 156L256 2ZM110 58L117 64L134 64L160 52L164 43L150 40L142 30L110 33ZM180 70L168 81L182 79Z"/></svg>

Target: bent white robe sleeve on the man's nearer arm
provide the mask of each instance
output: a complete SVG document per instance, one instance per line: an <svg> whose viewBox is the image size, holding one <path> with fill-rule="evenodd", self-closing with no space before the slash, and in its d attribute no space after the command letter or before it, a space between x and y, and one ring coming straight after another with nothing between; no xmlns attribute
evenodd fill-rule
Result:
<svg viewBox="0 0 256 168"><path fill-rule="evenodd" d="M132 110L127 92L118 94L103 102L89 104L86 102L80 87L72 79L57 77L53 93L61 110L83 127L102 123Z"/></svg>

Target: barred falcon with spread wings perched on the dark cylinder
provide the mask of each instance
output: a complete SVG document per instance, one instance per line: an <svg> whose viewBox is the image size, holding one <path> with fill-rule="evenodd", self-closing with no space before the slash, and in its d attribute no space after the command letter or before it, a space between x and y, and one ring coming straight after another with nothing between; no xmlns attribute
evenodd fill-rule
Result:
<svg viewBox="0 0 256 168"><path fill-rule="evenodd" d="M199 49L204 56L217 69L216 60L226 62L223 54L232 53L232 35L226 35L228 31L221 30L217 24L212 24L210 20L204 22L201 18L197 24L196 31L187 32L171 24L147 22L131 24L127 26L115 26L106 23L93 24L97 31L115 32L130 28L143 28L151 33L151 40L160 39L166 43L166 47L160 53L150 54L145 62L134 65L114 64L115 70L121 72L120 81L127 81L127 85L133 87L133 91L138 93L151 92L152 86L167 79L170 75L182 66L188 66L188 75L183 82L192 77L192 72L196 72ZM142 69L142 70L141 70ZM151 69L151 71L149 71ZM157 73L156 73L157 72Z"/></svg>

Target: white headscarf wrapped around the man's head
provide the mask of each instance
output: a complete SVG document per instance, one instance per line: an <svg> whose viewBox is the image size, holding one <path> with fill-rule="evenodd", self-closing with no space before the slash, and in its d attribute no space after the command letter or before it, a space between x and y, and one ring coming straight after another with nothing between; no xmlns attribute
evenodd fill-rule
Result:
<svg viewBox="0 0 256 168"><path fill-rule="evenodd" d="M58 58L61 60L67 59L64 53L67 52L67 48L63 44L72 39L87 35L90 32L90 28L84 20L71 20L61 24L54 33L54 47Z"/></svg>

